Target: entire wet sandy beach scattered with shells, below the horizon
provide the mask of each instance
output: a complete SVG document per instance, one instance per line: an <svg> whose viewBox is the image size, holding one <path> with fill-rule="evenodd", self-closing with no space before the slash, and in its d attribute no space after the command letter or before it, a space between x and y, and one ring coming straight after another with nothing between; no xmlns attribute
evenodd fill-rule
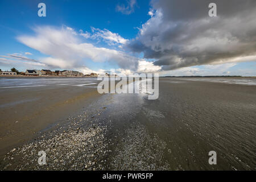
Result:
<svg viewBox="0 0 256 182"><path fill-rule="evenodd" d="M157 100L98 82L0 78L0 169L256 169L255 78L159 78Z"/></svg>

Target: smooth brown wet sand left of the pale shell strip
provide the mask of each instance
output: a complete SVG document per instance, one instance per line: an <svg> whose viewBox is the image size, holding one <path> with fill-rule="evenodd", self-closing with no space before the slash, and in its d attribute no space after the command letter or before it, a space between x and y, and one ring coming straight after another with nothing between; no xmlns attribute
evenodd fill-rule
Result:
<svg viewBox="0 0 256 182"><path fill-rule="evenodd" d="M95 88L79 86L9 87L0 89L0 154L66 120L100 96Z"/></svg>

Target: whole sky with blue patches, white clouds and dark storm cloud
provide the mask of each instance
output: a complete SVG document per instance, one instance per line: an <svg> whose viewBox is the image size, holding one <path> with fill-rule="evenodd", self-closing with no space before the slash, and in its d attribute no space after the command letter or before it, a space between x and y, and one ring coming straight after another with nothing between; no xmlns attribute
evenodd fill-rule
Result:
<svg viewBox="0 0 256 182"><path fill-rule="evenodd" d="M0 69L256 76L255 17L255 0L1 0Z"/></svg>

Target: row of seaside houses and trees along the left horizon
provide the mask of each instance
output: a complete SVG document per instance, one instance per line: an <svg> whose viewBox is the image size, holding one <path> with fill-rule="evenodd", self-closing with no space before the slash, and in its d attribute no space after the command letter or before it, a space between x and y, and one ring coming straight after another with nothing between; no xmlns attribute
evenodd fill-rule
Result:
<svg viewBox="0 0 256 182"><path fill-rule="evenodd" d="M27 69L26 72L19 72L15 68L11 68L11 71L2 71L0 69L0 76L61 76L61 77L97 77L99 74L97 73L90 73L90 75L84 75L78 71L70 71L70 70L63 70L63 71L51 71L49 69ZM100 76L110 76L108 73L105 75ZM115 75L116 76L116 75Z"/></svg>

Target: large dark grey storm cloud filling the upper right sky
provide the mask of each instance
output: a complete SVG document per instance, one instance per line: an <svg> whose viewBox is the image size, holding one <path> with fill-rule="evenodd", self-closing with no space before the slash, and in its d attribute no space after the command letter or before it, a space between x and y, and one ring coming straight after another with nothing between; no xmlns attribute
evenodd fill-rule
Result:
<svg viewBox="0 0 256 182"><path fill-rule="evenodd" d="M217 17L208 15L211 2ZM256 1L154 0L151 5L154 16L126 46L164 70L256 58Z"/></svg>

